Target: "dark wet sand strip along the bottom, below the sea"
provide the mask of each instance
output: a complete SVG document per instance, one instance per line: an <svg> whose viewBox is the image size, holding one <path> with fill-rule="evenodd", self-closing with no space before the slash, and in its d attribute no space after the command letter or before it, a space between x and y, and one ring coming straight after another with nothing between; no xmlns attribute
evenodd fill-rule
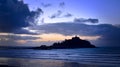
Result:
<svg viewBox="0 0 120 67"><path fill-rule="evenodd" d="M106 67L62 60L0 58L0 67Z"/></svg>

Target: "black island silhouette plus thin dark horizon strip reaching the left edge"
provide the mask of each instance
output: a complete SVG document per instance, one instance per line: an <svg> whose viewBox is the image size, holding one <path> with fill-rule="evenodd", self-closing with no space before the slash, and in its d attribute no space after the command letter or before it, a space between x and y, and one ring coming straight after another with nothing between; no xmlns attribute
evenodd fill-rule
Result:
<svg viewBox="0 0 120 67"><path fill-rule="evenodd" d="M74 49L74 48L96 48L87 40L82 40L78 36L71 39L65 39L62 42L53 43L51 46L41 45L37 47L17 47L17 46L0 46L0 49Z"/></svg>

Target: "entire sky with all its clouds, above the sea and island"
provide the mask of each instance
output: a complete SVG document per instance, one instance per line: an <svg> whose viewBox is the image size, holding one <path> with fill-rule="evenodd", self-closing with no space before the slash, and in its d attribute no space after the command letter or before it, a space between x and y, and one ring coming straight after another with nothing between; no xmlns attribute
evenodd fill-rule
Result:
<svg viewBox="0 0 120 67"><path fill-rule="evenodd" d="M78 36L120 46L120 0L0 0L0 46L52 45Z"/></svg>

